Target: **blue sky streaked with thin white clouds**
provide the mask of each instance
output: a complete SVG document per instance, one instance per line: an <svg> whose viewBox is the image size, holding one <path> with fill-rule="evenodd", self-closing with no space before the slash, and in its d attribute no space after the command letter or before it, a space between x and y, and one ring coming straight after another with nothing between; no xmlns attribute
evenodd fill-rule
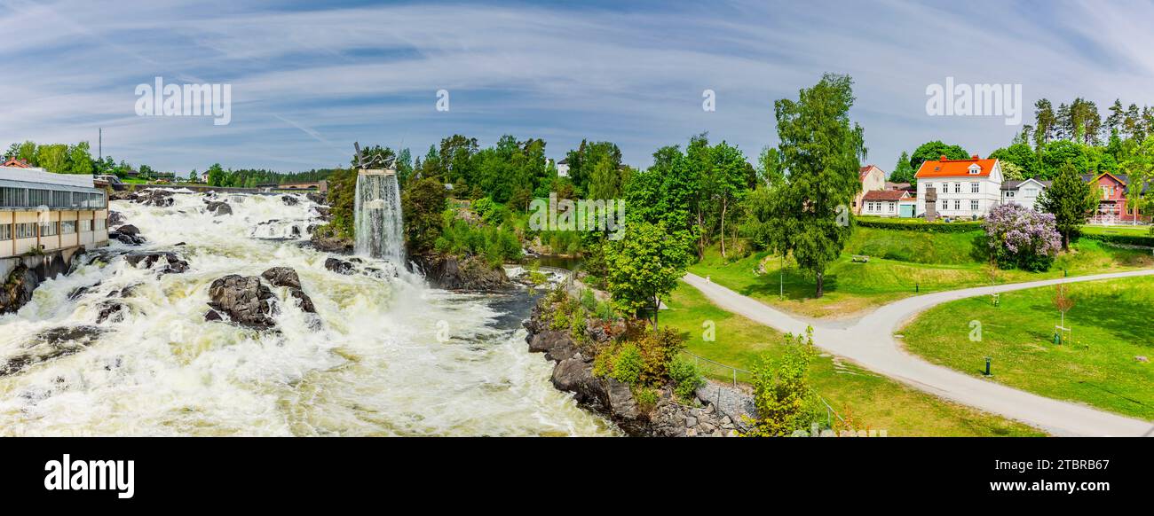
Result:
<svg viewBox="0 0 1154 516"><path fill-rule="evenodd" d="M95 153L103 127L105 154L135 165L287 172L347 164L353 141L420 155L511 134L554 158L612 141L646 166L709 131L752 160L777 142L773 100L833 71L855 79L867 161L890 170L927 141L984 155L1020 129L927 115L946 76L1021 84L1027 123L1040 97L1154 104L1148 2L623 3L0 0L0 145ZM157 76L231 84L232 123L137 116Z"/></svg>

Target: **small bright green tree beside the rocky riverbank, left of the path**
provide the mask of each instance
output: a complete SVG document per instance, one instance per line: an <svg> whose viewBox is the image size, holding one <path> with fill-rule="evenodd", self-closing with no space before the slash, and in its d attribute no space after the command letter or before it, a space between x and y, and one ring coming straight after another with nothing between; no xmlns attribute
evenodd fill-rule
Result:
<svg viewBox="0 0 1154 516"><path fill-rule="evenodd" d="M658 327L658 308L685 275L691 242L685 232L670 233L665 225L640 222L627 223L624 236L604 246L606 282L622 313L651 311L653 327Z"/></svg>

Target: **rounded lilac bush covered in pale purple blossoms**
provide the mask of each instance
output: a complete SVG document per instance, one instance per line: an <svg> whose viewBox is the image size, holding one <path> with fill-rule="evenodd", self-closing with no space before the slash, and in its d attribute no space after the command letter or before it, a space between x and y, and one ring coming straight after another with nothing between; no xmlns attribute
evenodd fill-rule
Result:
<svg viewBox="0 0 1154 516"><path fill-rule="evenodd" d="M1002 268L1047 271L1062 249L1054 215L1017 204L995 207L982 228L990 255Z"/></svg>

